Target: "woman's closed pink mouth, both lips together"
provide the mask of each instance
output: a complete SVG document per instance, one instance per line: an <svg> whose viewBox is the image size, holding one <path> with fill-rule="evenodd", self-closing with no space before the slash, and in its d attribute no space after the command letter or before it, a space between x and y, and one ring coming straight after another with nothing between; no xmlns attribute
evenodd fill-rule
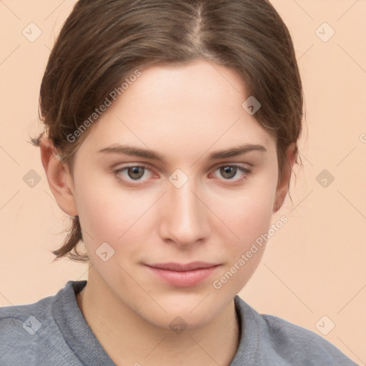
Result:
<svg viewBox="0 0 366 366"><path fill-rule="evenodd" d="M193 287L204 282L221 264L207 262L145 264L149 272L176 287Z"/></svg>

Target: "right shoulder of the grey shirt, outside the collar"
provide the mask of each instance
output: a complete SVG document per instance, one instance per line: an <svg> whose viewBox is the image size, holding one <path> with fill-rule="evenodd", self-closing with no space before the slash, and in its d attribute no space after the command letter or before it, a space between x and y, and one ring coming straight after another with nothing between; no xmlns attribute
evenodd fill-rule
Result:
<svg viewBox="0 0 366 366"><path fill-rule="evenodd" d="M262 362L277 360L281 365L285 361L287 366L357 365L315 332L274 315L259 314L239 297L236 302L244 317L244 328L247 322L250 332L257 333L257 352L265 355Z"/></svg>

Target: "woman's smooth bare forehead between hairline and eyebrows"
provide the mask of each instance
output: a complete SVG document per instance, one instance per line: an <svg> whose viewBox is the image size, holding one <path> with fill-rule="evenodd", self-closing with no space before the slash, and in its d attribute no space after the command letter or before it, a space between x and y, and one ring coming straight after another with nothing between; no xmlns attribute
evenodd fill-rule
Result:
<svg viewBox="0 0 366 366"><path fill-rule="evenodd" d="M211 146L274 146L272 136L243 109L249 95L234 70L196 60L140 71L92 126L82 149L129 143L162 154L192 152L193 158Z"/></svg>

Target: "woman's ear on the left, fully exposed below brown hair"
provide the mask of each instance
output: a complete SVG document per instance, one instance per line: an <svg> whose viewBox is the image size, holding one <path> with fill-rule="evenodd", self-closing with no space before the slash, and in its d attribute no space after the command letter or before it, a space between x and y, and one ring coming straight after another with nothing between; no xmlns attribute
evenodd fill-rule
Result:
<svg viewBox="0 0 366 366"><path fill-rule="evenodd" d="M68 167L60 162L51 139L42 137L40 148L42 165L59 208L70 216L77 216L74 187Z"/></svg>

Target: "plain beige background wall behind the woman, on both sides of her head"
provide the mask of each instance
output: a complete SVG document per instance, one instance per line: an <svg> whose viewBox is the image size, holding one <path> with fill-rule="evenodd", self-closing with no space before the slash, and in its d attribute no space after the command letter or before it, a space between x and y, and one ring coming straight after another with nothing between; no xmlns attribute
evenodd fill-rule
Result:
<svg viewBox="0 0 366 366"><path fill-rule="evenodd" d="M288 199L273 217L289 222L239 295L320 335L334 322L322 336L366 365L366 0L272 3L293 36L305 87L304 169L292 184L293 206ZM0 306L36 302L68 280L86 279L85 264L51 263L69 220L51 195L39 149L26 142L41 131L41 76L73 4L0 1ZM34 42L22 34L31 22L42 32ZM316 34L324 22L335 30L326 42ZM330 31L321 26L318 34ZM23 180L31 169L41 179L33 188ZM327 187L317 182L323 169L335 177Z"/></svg>

